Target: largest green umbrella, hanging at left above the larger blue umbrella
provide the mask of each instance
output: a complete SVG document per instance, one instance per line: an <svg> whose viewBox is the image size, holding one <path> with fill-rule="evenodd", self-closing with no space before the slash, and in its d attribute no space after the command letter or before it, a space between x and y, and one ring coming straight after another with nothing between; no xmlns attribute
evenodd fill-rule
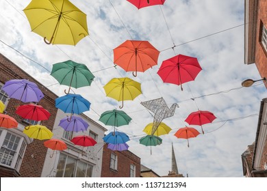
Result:
<svg viewBox="0 0 267 191"><path fill-rule="evenodd" d="M68 92L65 89L66 94L70 93L71 87L90 86L94 79L94 75L85 64L71 60L53 64L51 76L61 85L69 86Z"/></svg>

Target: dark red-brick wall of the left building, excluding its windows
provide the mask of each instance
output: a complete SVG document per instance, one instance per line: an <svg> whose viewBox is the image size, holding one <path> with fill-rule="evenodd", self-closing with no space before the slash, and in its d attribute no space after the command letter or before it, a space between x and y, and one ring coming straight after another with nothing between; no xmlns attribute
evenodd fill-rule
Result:
<svg viewBox="0 0 267 191"><path fill-rule="evenodd" d="M5 83L8 80L12 79L28 79L31 82L36 83L42 93L44 93L44 98L40 100L38 104L47 109L51 113L51 117L47 121L42 121L42 126L46 126L49 130L52 131L53 123L55 121L55 115L57 113L57 108L55 108L55 98L58 98L53 92L49 91L42 84L38 83L38 79L34 79L29 74L18 68L14 63L9 59L0 54L0 82ZM24 123L23 119L16 115L15 107L21 104L25 104L19 100L10 99L8 106L5 109L8 112L8 115L14 117L18 123ZM27 126L27 123L24 123ZM21 177L40 177L42 173L42 166L44 164L44 158L47 153L47 147L43 145L44 141L39 141L34 139L34 141L27 145L25 151L25 156L21 164L21 169L19 173Z"/></svg>

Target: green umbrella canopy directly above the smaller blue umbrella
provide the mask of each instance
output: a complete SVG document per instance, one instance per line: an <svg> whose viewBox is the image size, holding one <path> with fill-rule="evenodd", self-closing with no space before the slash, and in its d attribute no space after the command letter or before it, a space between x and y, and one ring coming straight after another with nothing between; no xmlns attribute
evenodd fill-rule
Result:
<svg viewBox="0 0 267 191"><path fill-rule="evenodd" d="M99 121L107 126L125 126L131 121L131 117L127 115L124 111L118 111L116 109L112 111L105 111L101 114Z"/></svg>

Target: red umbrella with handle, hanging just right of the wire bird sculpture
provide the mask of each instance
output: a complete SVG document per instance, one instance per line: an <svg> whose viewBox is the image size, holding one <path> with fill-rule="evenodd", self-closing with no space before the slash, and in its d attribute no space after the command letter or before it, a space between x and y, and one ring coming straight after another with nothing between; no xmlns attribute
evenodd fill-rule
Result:
<svg viewBox="0 0 267 191"><path fill-rule="evenodd" d="M209 111L195 111L190 113L185 121L189 125L201 126L202 133L204 134L202 125L206 123L212 123L214 119L216 119L216 117Z"/></svg>

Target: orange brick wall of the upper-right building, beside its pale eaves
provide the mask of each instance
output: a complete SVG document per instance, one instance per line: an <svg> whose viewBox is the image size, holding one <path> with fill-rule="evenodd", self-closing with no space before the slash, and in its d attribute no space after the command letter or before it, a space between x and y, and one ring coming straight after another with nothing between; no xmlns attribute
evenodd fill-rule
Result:
<svg viewBox="0 0 267 191"><path fill-rule="evenodd" d="M256 47L255 47L255 64L259 74L267 78L267 53L260 43L262 34L262 29L260 28L260 23L263 23L267 27L267 1L260 0L258 3L258 16L257 16L257 35L256 35ZM265 83L267 87L267 83Z"/></svg>

